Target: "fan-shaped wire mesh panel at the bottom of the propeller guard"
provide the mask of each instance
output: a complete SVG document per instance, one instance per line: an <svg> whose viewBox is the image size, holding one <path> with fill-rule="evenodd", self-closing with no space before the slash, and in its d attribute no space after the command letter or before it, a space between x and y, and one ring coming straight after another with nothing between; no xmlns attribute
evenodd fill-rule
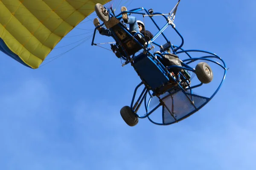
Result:
<svg viewBox="0 0 256 170"><path fill-rule="evenodd" d="M163 124L178 122L198 111L210 99L190 93L178 91L163 99Z"/></svg>

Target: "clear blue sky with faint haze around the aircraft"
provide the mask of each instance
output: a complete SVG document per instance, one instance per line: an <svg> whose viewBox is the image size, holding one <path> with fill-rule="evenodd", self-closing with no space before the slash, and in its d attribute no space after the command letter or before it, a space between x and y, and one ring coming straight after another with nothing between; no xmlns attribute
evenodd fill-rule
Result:
<svg viewBox="0 0 256 170"><path fill-rule="evenodd" d="M121 1L116 10L126 4ZM127 7L169 13L175 4L141 0ZM254 170L255 7L249 0L181 0L175 24L183 48L212 51L230 69L204 108L169 126L123 122L119 110L130 105L140 79L111 51L91 46L91 39L49 62L92 34L94 13L41 68L26 68L0 53L0 169Z"/></svg>

